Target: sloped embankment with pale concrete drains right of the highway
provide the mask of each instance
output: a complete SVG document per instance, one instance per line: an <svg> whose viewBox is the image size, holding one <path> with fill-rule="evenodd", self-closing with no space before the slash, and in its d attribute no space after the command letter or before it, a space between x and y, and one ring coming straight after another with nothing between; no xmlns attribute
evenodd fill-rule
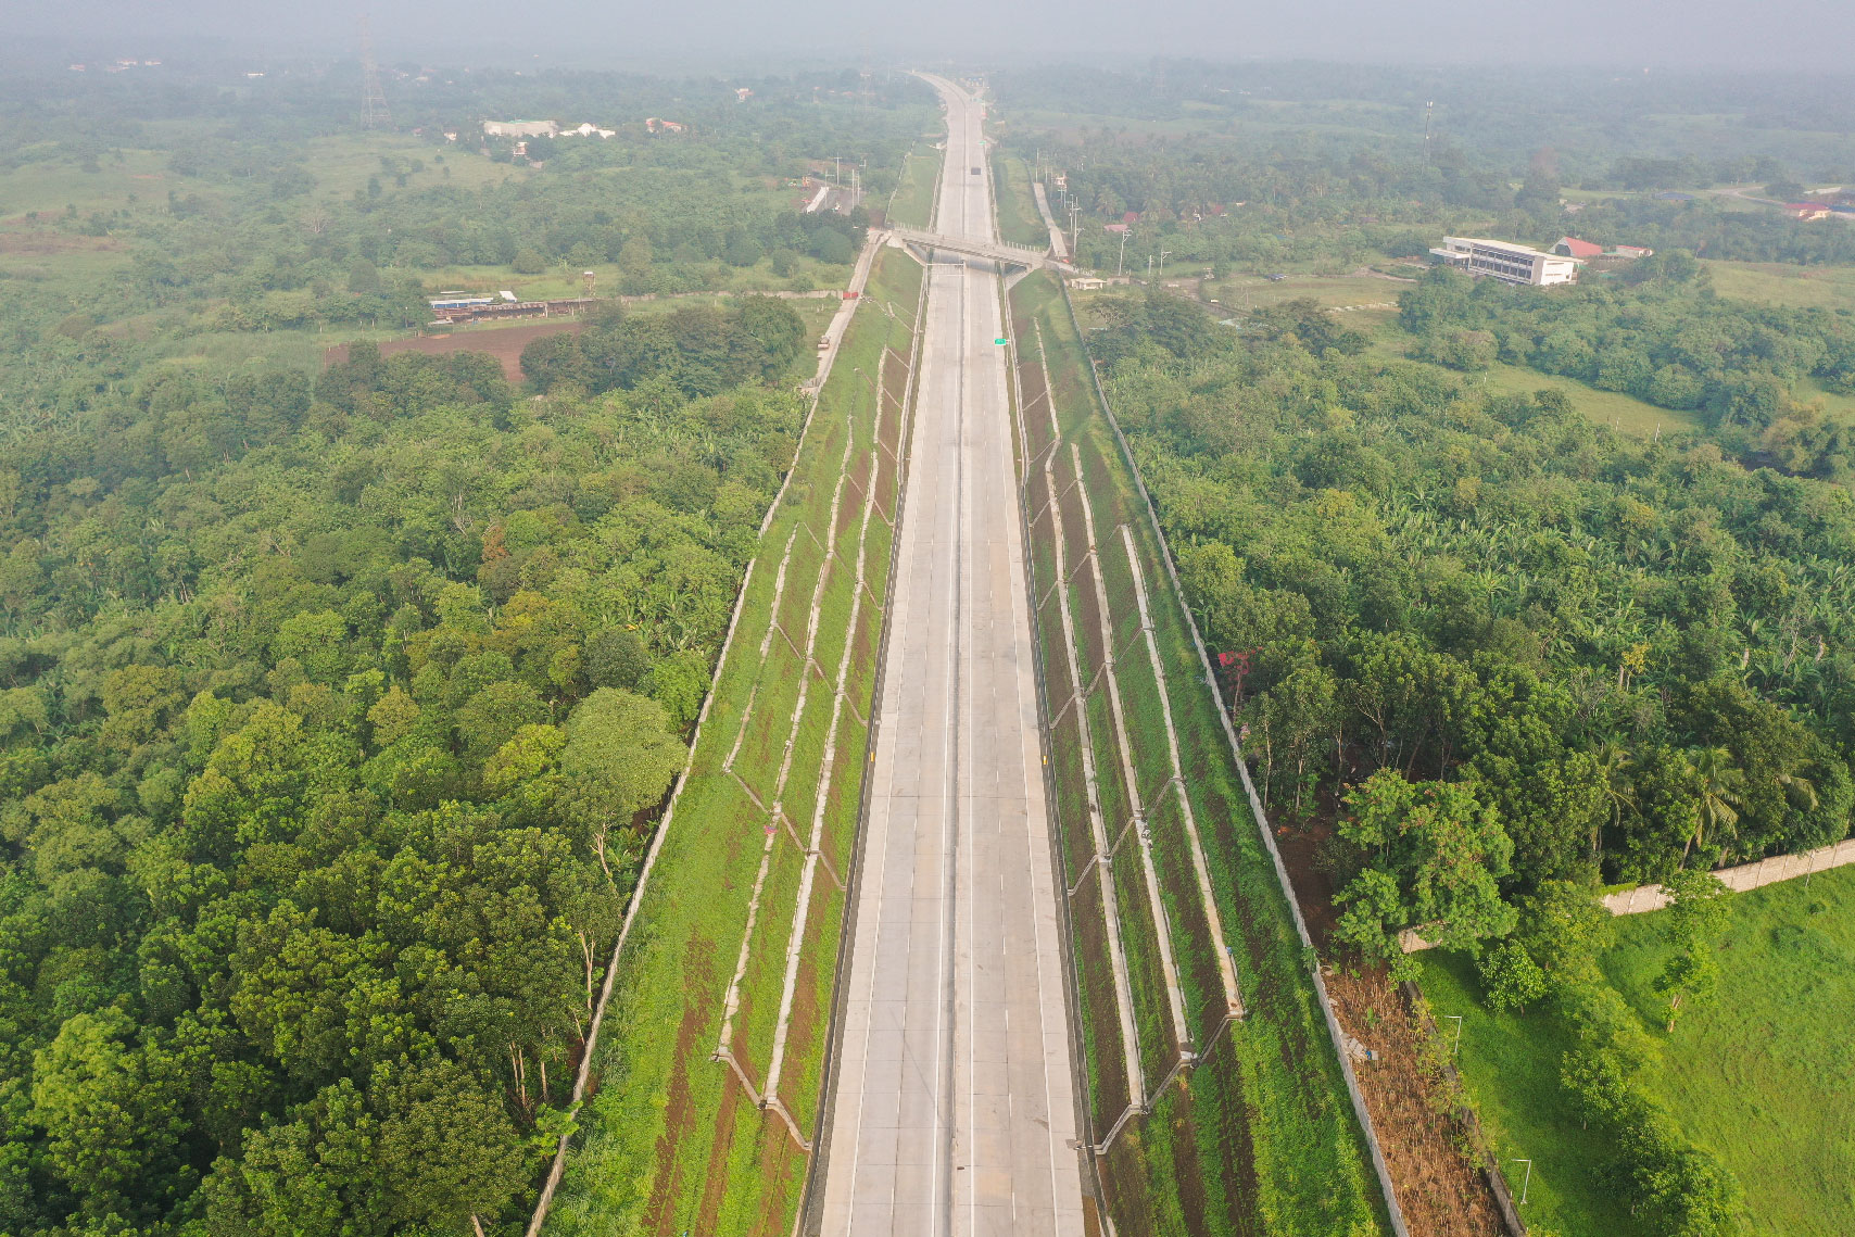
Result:
<svg viewBox="0 0 1855 1237"><path fill-rule="evenodd" d="M1020 282L1009 321L1102 1205L1120 1233L1386 1231L1310 957L1059 286Z"/></svg>

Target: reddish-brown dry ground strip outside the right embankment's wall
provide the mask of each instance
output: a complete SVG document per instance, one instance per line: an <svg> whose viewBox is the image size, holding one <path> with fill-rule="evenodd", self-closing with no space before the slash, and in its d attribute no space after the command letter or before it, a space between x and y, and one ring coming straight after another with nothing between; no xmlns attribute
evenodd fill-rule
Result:
<svg viewBox="0 0 1855 1237"><path fill-rule="evenodd" d="M1501 1237L1488 1183L1460 1150L1467 1133L1449 1111L1434 1065L1439 1055L1425 1053L1434 1031L1415 1026L1384 968L1339 970L1326 990L1347 1033L1380 1057L1354 1063L1354 1074L1410 1231Z"/></svg>

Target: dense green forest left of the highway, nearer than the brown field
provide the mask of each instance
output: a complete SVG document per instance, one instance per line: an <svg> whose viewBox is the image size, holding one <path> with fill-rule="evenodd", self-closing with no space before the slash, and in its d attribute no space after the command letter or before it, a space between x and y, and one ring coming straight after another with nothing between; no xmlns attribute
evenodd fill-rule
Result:
<svg viewBox="0 0 1855 1237"><path fill-rule="evenodd" d="M493 1224L801 408L367 349L130 408L6 475L0 1228Z"/></svg>

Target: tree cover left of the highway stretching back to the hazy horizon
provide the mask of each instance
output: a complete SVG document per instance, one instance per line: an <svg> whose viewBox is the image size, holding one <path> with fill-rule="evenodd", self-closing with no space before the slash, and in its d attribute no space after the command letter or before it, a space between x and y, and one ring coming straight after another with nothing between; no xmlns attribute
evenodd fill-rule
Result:
<svg viewBox="0 0 1855 1237"><path fill-rule="evenodd" d="M612 302L521 386L375 339L445 265L844 263L863 215L768 178L881 180L924 113L486 74L412 147L338 87L0 104L7 193L173 189L0 219L0 1233L525 1222L811 349L755 295ZM436 132L677 98L540 169Z"/></svg>

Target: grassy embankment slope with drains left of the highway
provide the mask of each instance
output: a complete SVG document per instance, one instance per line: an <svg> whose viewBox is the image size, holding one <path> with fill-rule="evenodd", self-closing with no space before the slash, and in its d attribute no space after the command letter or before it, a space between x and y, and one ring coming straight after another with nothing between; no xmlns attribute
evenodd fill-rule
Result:
<svg viewBox="0 0 1855 1237"><path fill-rule="evenodd" d="M889 443L900 438L902 419L902 391L892 391L894 399L885 391L879 410L874 376L887 349L903 360L909 354L920 276L920 267L898 250L879 258L870 304L850 326L794 462L787 499L761 540L690 775L621 961L594 1061L597 1090L581 1115L584 1133L549 1218L553 1233L633 1228L787 1233L792 1226L807 1154L787 1122L757 1109L733 1068L710 1057L748 937L753 888L761 883L729 1048L755 1090L768 1089L798 885L824 794L818 846L824 861L816 864L798 938L800 966L777 1087L803 1137L816 1139L820 1061L844 912L837 877L850 874L866 759L859 718L870 716L874 694L883 618L877 605L890 547L885 519L892 517L896 490L894 469L876 469L872 456L879 454L879 434ZM883 313L881 304L896 304L902 321ZM885 382L898 388L905 380L905 363L890 356ZM861 486L872 475L877 503L864 521ZM838 495L837 547L825 556L833 495ZM859 543L868 590L851 625ZM809 664L801 660L807 645ZM827 764L824 749L840 664L848 666L850 708L837 718L835 757ZM801 684L803 712L794 723ZM736 742L740 751L729 772ZM788 742L792 759L781 783ZM783 801L783 820L772 816L775 796Z"/></svg>

